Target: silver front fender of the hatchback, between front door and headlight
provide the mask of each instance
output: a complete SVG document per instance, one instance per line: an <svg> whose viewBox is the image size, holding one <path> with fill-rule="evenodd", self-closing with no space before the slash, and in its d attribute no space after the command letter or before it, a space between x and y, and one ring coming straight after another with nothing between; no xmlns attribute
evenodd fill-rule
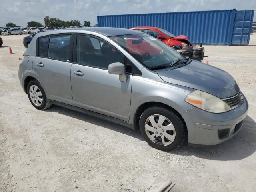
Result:
<svg viewBox="0 0 256 192"><path fill-rule="evenodd" d="M147 73L151 73L151 78L147 77L149 75ZM192 108L184 99L193 90L166 83L154 72L148 72L147 69L143 68L142 76L134 76L132 80L130 123L134 123L134 116L139 106L147 102L166 104L179 114L183 114Z"/></svg>

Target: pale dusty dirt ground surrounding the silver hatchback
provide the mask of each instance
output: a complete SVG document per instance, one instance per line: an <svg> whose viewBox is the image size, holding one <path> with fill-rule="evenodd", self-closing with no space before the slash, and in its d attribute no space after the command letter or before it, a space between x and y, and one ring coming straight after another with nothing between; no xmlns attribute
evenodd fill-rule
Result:
<svg viewBox="0 0 256 192"><path fill-rule="evenodd" d="M173 191L255 191L256 34L249 46L205 46L204 62L232 74L248 99L242 130L219 146L173 152L98 118L58 106L36 110L18 80L23 35L1 37L0 191L144 192L167 180Z"/></svg>

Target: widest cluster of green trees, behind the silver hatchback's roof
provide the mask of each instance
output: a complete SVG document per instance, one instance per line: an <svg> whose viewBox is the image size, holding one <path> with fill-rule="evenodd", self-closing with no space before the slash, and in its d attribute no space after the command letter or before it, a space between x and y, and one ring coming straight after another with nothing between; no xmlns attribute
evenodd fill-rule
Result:
<svg viewBox="0 0 256 192"><path fill-rule="evenodd" d="M80 26L81 23L78 20L62 21L59 18L53 18L46 16L44 17L44 24L46 27L70 27L70 26Z"/></svg>

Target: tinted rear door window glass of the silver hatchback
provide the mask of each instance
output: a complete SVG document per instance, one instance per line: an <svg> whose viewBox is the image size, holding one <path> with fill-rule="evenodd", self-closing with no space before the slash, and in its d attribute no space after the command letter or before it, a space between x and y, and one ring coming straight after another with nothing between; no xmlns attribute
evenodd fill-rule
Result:
<svg viewBox="0 0 256 192"><path fill-rule="evenodd" d="M51 36L48 58L69 61L71 37L72 35Z"/></svg>

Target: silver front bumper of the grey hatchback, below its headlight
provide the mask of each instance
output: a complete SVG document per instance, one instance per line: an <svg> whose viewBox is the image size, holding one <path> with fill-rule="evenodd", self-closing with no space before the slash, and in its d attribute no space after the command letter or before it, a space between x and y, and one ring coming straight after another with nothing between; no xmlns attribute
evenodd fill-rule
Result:
<svg viewBox="0 0 256 192"><path fill-rule="evenodd" d="M188 129L188 143L212 146L229 140L242 128L247 112L248 102L245 96L242 105L225 113L214 114L196 107L191 108L182 114ZM227 132L224 137L220 136L221 131Z"/></svg>

